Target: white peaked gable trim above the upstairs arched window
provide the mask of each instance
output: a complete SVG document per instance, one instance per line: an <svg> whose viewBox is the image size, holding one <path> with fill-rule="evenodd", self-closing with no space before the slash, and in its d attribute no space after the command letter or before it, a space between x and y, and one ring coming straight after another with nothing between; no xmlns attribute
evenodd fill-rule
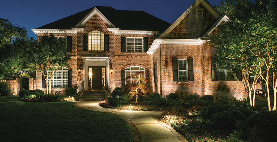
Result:
<svg viewBox="0 0 277 142"><path fill-rule="evenodd" d="M104 20L111 28L116 28L116 26L114 26L114 24L112 24L111 21L109 21L108 18L106 18L96 7L91 10L91 12L89 12L88 15L86 15L76 26L75 28L81 28L86 22L88 22L88 20L93 17L95 14L97 14L99 17L102 18L102 20Z"/></svg>

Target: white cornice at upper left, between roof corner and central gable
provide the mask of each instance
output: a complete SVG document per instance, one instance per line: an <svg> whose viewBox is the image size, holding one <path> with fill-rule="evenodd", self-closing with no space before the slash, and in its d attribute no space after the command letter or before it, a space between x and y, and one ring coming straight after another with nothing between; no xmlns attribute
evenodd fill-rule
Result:
<svg viewBox="0 0 277 142"><path fill-rule="evenodd" d="M50 33L50 34L77 34L83 31L84 28L71 28L71 30L57 30L57 29L32 29L35 34L39 33Z"/></svg>

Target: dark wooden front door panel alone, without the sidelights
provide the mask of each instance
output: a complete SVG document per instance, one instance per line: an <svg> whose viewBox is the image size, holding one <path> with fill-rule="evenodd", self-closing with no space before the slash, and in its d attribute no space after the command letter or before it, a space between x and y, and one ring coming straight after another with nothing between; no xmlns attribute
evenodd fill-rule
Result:
<svg viewBox="0 0 277 142"><path fill-rule="evenodd" d="M92 89L102 89L102 66L92 66Z"/></svg>

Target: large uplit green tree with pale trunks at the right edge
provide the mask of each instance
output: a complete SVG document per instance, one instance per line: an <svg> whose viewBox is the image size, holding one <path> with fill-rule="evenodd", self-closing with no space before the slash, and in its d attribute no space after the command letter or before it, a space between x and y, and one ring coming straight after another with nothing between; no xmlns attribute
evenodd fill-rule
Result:
<svg viewBox="0 0 277 142"><path fill-rule="evenodd" d="M219 25L219 32L212 37L211 44L217 49L216 57L222 60L234 59L234 63L244 72L253 73L266 85L268 109L270 107L269 76L275 78L276 66L276 2L258 0L253 2L234 3L230 10L230 20ZM276 79L273 79L276 86ZM255 87L255 85L253 86ZM252 87L252 88L253 88ZM250 87L251 88L251 87ZM277 86L276 86L277 88ZM274 100L276 100L276 88ZM249 88L248 88L249 90ZM248 92L251 97L251 93ZM276 101L273 107L276 110Z"/></svg>

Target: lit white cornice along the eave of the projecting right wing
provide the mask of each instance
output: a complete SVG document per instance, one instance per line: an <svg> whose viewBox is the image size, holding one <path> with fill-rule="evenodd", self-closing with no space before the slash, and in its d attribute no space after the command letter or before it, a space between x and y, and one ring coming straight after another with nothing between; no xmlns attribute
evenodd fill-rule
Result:
<svg viewBox="0 0 277 142"><path fill-rule="evenodd" d="M155 39L148 49L148 54L153 54L161 44L165 45L201 45L209 41L207 39Z"/></svg>

